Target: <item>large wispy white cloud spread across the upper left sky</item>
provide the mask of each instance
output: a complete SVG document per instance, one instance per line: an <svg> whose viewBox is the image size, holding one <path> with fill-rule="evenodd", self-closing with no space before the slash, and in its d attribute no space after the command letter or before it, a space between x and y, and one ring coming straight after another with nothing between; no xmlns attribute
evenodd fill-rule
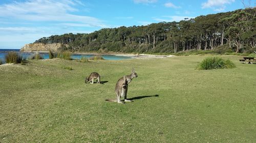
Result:
<svg viewBox="0 0 256 143"><path fill-rule="evenodd" d="M0 16L27 21L78 22L102 27L102 21L90 16L72 14L74 6L83 4L73 0L27 0L0 6Z"/></svg>

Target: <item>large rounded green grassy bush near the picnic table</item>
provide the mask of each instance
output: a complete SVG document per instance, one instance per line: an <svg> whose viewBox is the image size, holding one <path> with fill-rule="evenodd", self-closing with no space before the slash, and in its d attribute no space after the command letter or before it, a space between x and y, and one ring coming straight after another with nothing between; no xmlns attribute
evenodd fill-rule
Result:
<svg viewBox="0 0 256 143"><path fill-rule="evenodd" d="M224 60L218 56L210 56L205 59L203 59L202 62L200 62L196 69L199 70L212 70L212 69L229 69L229 68L235 68L236 65L230 60Z"/></svg>

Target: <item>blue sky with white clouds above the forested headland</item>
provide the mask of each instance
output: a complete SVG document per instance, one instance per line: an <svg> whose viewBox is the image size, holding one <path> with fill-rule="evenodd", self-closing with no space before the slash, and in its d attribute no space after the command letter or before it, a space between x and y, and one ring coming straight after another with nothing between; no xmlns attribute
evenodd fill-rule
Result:
<svg viewBox="0 0 256 143"><path fill-rule="evenodd" d="M19 49L51 35L180 21L242 8L240 0L1 0L0 48Z"/></svg>

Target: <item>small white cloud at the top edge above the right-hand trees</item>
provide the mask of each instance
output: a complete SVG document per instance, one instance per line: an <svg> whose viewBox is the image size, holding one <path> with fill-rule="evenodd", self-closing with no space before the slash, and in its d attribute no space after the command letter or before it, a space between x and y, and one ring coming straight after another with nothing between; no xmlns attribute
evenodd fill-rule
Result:
<svg viewBox="0 0 256 143"><path fill-rule="evenodd" d="M215 11L224 11L227 4L233 3L234 0L208 0L202 4L202 9L211 8Z"/></svg>

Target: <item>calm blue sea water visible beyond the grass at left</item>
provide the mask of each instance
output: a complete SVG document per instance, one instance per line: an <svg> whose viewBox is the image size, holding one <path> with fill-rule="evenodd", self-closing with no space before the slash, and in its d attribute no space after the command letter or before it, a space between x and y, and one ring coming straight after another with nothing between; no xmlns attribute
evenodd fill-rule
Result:
<svg viewBox="0 0 256 143"><path fill-rule="evenodd" d="M0 60L2 60L3 62L5 62L5 55L7 54L7 52L10 51L14 51L17 52L19 54L21 54L23 56L23 58L29 58L33 53L30 52L19 52L19 49L0 49ZM42 57L44 57L44 59L49 59L49 54L48 53L40 53ZM72 59L81 59L81 57L86 57L86 58L90 58L91 56L93 56L93 54L71 54L71 58ZM126 59L131 59L131 57L129 56L119 56L119 55L102 55L102 57L105 60L126 60Z"/></svg>

